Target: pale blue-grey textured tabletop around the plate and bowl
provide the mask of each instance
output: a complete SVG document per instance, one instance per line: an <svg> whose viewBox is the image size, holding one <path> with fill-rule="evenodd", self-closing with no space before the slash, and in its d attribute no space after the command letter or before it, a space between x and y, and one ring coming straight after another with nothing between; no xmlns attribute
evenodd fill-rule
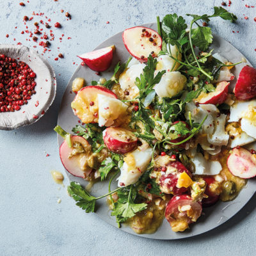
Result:
<svg viewBox="0 0 256 256"><path fill-rule="evenodd" d="M28 34L21 34L26 30L22 17L31 17L34 11L51 18L51 24L60 22L63 29L52 29L55 40L51 52L45 53L55 69L58 83L51 109L34 125L0 132L0 255L255 255L256 196L232 220L202 236L154 241L126 234L95 214L85 214L67 196L68 180L64 182L65 188L61 188L50 174L51 170L63 172L52 128L56 125L65 86L76 70L76 63L73 63L79 63L76 54L92 50L125 28L152 22L156 15L211 13L213 6L219 6L221 1L30 0L30 3L24 1L24 7L19 2L0 0L1 44L38 45L26 41ZM251 6L256 2L234 0L227 6L237 15L236 24L216 19L211 27L256 66L256 22L253 20L256 8L246 8L245 4ZM72 20L65 18L66 11L72 15ZM29 30L40 19L34 16L28 22ZM60 42L62 33L65 35ZM68 40L68 36L71 39ZM36 49L42 52L42 47ZM54 61L59 52L65 58ZM61 204L57 204L58 198Z"/></svg>

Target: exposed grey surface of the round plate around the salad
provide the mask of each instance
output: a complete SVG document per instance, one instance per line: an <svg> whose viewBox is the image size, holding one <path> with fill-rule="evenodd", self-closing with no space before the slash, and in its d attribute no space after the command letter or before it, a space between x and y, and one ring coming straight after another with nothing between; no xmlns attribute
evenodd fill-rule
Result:
<svg viewBox="0 0 256 256"><path fill-rule="evenodd" d="M141 25L145 26L147 28L157 29L155 23L145 24ZM124 47L123 41L122 41L122 32L112 36L102 44L100 44L95 49L100 49L102 47L108 47L109 45L115 45L116 46L116 52L114 54L113 63L109 70L111 72L102 72L102 77L105 77L106 79L109 79L113 74L113 67L115 67L116 63L118 61L126 61L127 58L129 58L129 52ZM212 44L212 48L216 49L214 52L220 52L222 56L227 58L229 61L232 61L233 63L241 61L241 58L244 57L241 52L239 52L235 47L233 47L231 44L229 44L226 40L221 38L218 35L214 35L214 42ZM81 52L77 52L81 53ZM83 53L83 52L82 52ZM250 63L248 63L250 64ZM243 68L245 64L238 65L236 68L232 69L232 72L237 77L241 68ZM72 88L72 81L76 77L84 77L86 82L90 85L90 81L96 80L99 81L99 76L95 74L90 68L79 66L74 72L74 75L71 77L70 81L68 82L67 89L63 95L63 99L61 102L61 107L58 115L58 125L60 125L65 131L71 132L72 127L74 127L78 123L78 118L75 116L72 112L72 109L70 107L70 104L72 100L74 99L74 93L71 92ZM234 84L236 81L233 81ZM58 143L61 145L63 142L63 139L58 136ZM83 186L86 186L88 182L81 178L74 177L70 173L67 172L68 178L70 180L74 180L76 182L79 182ZM113 189L115 188L115 184L113 184ZM244 188L241 193L237 196L237 198L231 202L218 202L216 205L213 205L212 207L208 207L204 209L205 215L202 215L198 221L190 225L189 230L186 230L185 232L179 232L175 233L171 230L169 223L164 220L161 227L158 228L157 232L154 234L141 234L138 235L132 231L131 228L122 225L121 230L124 230L125 232L129 232L131 234L142 236L142 237L148 237L152 239L180 239L185 237L191 237L196 236L198 234L202 234L204 232L207 232L211 230L212 228L216 228L228 219L232 218L234 214L236 214L243 206L250 200L250 198L253 196L256 190L256 180L248 180L248 184L246 188ZM92 188L92 195L93 196L100 196L104 195L108 192L108 181L106 182L97 182L93 188ZM97 211L96 213L102 220L107 221L109 224L116 227L116 220L115 216L111 216L111 211L108 209L108 205L106 204L106 198L102 200L97 201ZM74 207L76 207L74 202ZM84 212L84 218L86 218L86 213Z"/></svg>

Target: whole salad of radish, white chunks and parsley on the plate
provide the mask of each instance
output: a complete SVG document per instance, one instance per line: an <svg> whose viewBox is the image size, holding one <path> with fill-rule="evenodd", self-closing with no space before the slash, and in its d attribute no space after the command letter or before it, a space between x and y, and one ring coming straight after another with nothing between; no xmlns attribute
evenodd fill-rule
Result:
<svg viewBox="0 0 256 256"><path fill-rule="evenodd" d="M54 129L64 139L60 158L68 172L89 182L109 180L98 197L70 182L76 204L94 212L106 197L118 227L127 223L138 234L155 232L164 218L182 232L204 207L234 200L256 175L256 70L209 49L210 19L237 17L221 7L188 17L189 26L173 13L157 17L158 31L125 29L131 57L109 80L86 85L76 77L71 108L81 125L72 134ZM103 72L113 54L115 45L79 58ZM244 66L238 77L236 65Z"/></svg>

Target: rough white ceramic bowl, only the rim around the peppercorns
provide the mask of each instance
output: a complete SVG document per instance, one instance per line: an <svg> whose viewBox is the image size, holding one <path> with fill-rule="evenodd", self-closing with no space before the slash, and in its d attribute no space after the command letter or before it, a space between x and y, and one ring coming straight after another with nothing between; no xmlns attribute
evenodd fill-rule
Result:
<svg viewBox="0 0 256 256"><path fill-rule="evenodd" d="M51 106L56 95L56 77L54 70L38 52L24 45L0 45L0 54L18 61L24 61L36 73L36 93L28 104L20 106L19 111L1 112L0 129L12 130L38 121ZM1 81L0 81L1 82Z"/></svg>

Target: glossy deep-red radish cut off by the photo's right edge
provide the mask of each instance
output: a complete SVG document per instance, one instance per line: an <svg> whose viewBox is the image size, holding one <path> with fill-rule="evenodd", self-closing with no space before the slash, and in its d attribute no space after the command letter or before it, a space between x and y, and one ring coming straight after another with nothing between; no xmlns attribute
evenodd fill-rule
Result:
<svg viewBox="0 0 256 256"><path fill-rule="evenodd" d="M237 100L248 100L256 96L256 69L245 66L241 70L234 88Z"/></svg>

